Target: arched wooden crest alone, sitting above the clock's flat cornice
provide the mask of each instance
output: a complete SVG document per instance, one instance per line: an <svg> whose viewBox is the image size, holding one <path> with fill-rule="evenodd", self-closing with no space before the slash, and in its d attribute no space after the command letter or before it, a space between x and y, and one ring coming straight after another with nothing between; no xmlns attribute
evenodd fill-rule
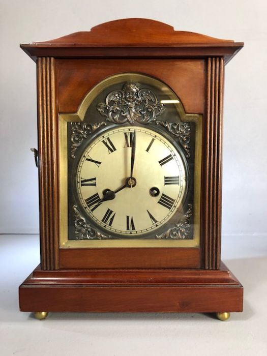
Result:
<svg viewBox="0 0 267 356"><path fill-rule="evenodd" d="M68 45L68 46L168 46L179 44L199 43L229 43L231 40L217 38L186 31L174 31L166 23L143 19L129 18L102 23L88 32L75 32L73 34L56 38L54 40L34 42L42 45Z"/></svg>

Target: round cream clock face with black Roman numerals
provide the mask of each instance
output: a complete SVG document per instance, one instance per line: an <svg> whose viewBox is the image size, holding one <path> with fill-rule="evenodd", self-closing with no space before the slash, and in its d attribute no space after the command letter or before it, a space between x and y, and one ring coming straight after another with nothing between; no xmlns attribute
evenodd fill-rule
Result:
<svg viewBox="0 0 267 356"><path fill-rule="evenodd" d="M174 145L137 126L114 128L93 140L75 180L88 216L120 235L161 227L180 209L187 186L185 165Z"/></svg>

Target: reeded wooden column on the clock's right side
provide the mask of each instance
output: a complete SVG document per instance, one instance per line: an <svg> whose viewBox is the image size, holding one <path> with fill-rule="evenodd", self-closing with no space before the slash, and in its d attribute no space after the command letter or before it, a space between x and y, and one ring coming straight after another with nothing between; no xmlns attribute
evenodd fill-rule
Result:
<svg viewBox="0 0 267 356"><path fill-rule="evenodd" d="M223 58L207 61L207 105L203 127L203 170L201 221L204 236L204 268L219 269L222 204L222 104ZM206 144L205 144L206 142Z"/></svg>

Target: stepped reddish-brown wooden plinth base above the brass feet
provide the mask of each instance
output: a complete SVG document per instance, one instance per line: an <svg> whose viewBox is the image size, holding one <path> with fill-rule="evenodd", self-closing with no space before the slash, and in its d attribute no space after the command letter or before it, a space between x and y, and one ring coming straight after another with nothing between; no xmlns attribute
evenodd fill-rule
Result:
<svg viewBox="0 0 267 356"><path fill-rule="evenodd" d="M243 287L220 270L58 270L38 266L19 287L27 312L241 312Z"/></svg>

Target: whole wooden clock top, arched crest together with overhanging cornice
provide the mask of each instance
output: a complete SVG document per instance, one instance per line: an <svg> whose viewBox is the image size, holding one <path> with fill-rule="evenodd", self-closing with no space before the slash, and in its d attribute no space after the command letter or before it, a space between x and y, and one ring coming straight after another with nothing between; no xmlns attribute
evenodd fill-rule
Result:
<svg viewBox="0 0 267 356"><path fill-rule="evenodd" d="M214 55L224 56L228 61L242 47L243 43L174 31L166 23L142 18L105 22L88 32L21 45L33 60L39 56L190 58Z"/></svg>

